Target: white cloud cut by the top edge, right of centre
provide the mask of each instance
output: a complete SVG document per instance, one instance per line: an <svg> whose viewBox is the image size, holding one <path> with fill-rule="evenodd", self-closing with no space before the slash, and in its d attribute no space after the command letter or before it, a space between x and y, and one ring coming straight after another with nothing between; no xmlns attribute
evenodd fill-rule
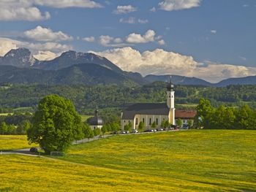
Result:
<svg viewBox="0 0 256 192"><path fill-rule="evenodd" d="M159 3L159 7L165 11L190 9L199 7L201 0L164 0Z"/></svg>

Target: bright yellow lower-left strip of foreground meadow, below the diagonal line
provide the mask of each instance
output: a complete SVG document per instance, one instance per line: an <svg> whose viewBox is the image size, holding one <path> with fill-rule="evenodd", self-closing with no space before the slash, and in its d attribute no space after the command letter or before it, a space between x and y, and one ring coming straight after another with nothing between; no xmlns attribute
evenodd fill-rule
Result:
<svg viewBox="0 0 256 192"><path fill-rule="evenodd" d="M187 191L195 183L97 166L29 157L0 155L0 191ZM190 188L190 189L189 189ZM200 188L214 190L201 184Z"/></svg>

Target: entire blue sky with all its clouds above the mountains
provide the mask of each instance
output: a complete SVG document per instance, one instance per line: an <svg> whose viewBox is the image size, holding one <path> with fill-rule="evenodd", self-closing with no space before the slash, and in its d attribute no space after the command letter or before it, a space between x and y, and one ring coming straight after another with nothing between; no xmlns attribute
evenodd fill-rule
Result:
<svg viewBox="0 0 256 192"><path fill-rule="evenodd" d="M143 75L255 75L256 1L0 0L0 55L17 47L93 51Z"/></svg>

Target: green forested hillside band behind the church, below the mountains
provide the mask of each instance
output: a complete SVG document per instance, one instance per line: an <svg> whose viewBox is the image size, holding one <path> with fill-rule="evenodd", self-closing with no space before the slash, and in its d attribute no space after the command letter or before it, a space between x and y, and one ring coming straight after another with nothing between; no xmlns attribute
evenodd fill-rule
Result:
<svg viewBox="0 0 256 192"><path fill-rule="evenodd" d="M0 108L36 107L42 97L58 94L71 99L80 113L87 114L96 105L100 109L121 108L128 103L165 102L165 82L129 88L118 85L8 85L0 88ZM225 88L176 86L176 108L195 107L200 98L220 104L256 106L256 85L230 85Z"/></svg>

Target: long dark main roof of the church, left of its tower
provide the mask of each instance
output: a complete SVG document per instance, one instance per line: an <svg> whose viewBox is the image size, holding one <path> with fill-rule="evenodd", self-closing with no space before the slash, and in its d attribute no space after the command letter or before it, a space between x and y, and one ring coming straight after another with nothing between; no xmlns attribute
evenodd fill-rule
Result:
<svg viewBox="0 0 256 192"><path fill-rule="evenodd" d="M165 103L140 103L129 105L124 111L122 119L134 119L135 115L168 115L169 108Z"/></svg>

